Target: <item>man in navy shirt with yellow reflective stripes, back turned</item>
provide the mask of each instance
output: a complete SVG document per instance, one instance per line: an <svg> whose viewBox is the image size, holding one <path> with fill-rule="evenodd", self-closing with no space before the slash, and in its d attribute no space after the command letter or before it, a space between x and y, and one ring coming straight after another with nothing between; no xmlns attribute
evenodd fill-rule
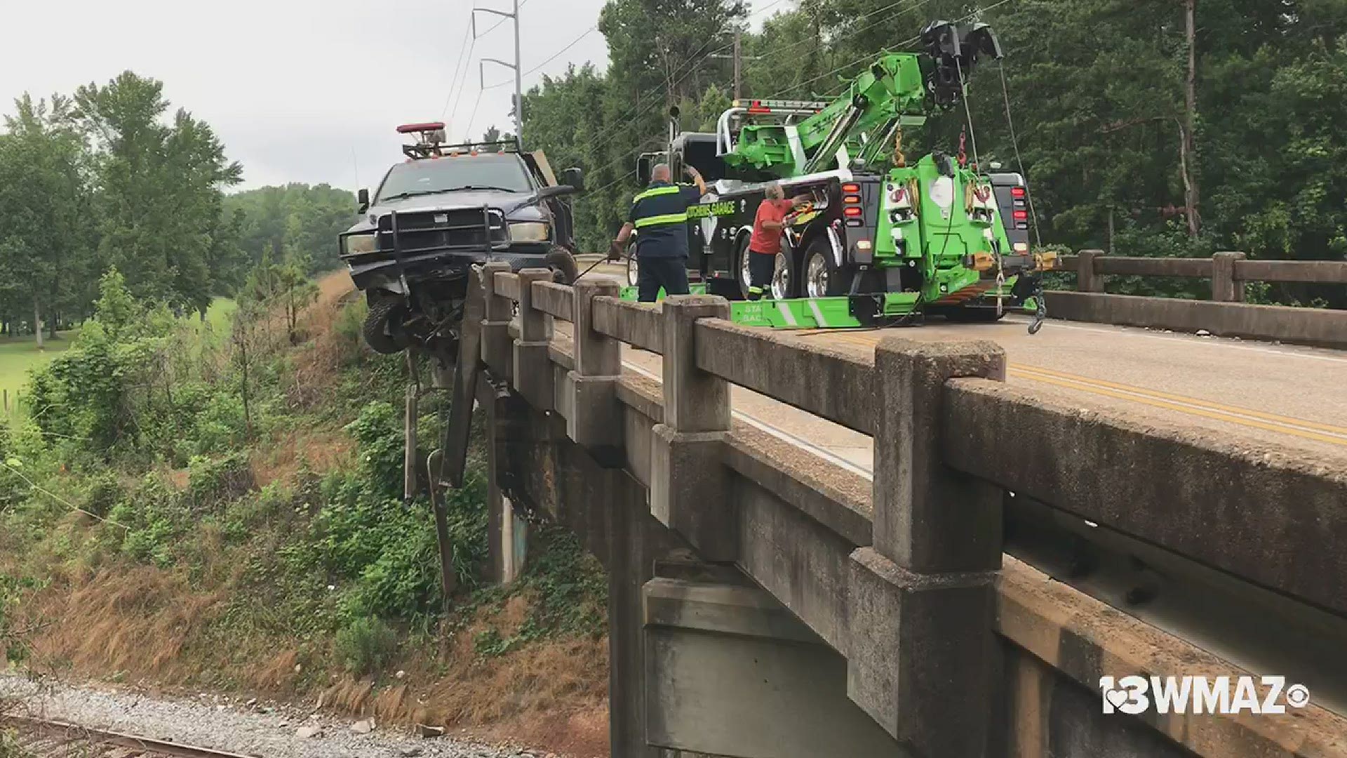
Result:
<svg viewBox="0 0 1347 758"><path fill-rule="evenodd" d="M667 295L687 294L687 206L696 205L706 194L702 174L688 166L691 185L669 183L669 167L660 163L651 169L651 185L632 200L632 212L617 233L616 247L636 236L638 270L637 290L641 302L655 302L660 289Z"/></svg>

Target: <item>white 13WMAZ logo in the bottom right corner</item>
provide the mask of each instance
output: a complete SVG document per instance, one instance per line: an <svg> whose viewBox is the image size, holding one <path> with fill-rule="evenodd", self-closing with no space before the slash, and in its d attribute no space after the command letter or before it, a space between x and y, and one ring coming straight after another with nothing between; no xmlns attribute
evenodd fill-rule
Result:
<svg viewBox="0 0 1347 758"><path fill-rule="evenodd" d="M1309 688L1286 677L1099 677L1105 713L1285 713L1309 704Z"/></svg>

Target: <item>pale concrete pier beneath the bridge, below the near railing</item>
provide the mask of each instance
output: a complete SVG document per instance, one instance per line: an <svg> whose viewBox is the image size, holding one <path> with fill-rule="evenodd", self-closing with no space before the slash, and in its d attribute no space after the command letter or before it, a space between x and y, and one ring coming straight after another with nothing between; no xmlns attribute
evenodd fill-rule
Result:
<svg viewBox="0 0 1347 758"><path fill-rule="evenodd" d="M846 660L762 589L656 577L643 595L652 745L684 757L909 755L847 699Z"/></svg>

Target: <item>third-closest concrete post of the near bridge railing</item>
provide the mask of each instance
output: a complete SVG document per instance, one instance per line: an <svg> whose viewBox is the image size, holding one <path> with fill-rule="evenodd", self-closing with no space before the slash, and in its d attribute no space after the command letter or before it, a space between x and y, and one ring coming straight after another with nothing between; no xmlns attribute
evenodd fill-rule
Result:
<svg viewBox="0 0 1347 758"><path fill-rule="evenodd" d="M607 468L625 463L622 409L617 382L622 375L622 344L594 329L594 298L617 297L616 282L575 282L575 370L567 374L570 403L566 434Z"/></svg>

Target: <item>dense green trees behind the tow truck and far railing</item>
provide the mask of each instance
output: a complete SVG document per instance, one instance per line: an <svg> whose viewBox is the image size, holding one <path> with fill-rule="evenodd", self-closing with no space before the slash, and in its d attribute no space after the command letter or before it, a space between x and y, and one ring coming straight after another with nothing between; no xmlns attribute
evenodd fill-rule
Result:
<svg viewBox="0 0 1347 758"><path fill-rule="evenodd" d="M1199 227L1184 218L1180 161L1187 119L1184 4L1171 0L1017 0L977 13L962 0L892 8L886 0L777 5L742 35L744 93L830 97L881 50L916 50L932 19L993 24L1006 50L1010 139L1001 71L970 84L983 162L1018 170L1022 155L1045 244L1118 255L1347 259L1347 3L1212 0L1197 4L1196 155ZM612 0L599 30L612 65L544 77L525 94L531 147L554 166L579 165L593 187L577 201L585 250L603 250L634 187L636 156L664 148L664 115L706 129L726 105L723 58L742 24L723 0ZM909 154L952 151L962 109L904 135ZM1117 291L1206 297L1204 285L1119 282ZM1263 287L1280 302L1316 297L1347 308L1342 287Z"/></svg>

